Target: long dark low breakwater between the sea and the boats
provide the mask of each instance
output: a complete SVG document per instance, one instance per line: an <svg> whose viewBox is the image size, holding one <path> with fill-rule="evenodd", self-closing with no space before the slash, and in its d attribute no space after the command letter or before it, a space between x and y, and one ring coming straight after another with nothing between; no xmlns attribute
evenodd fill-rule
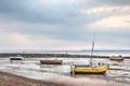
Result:
<svg viewBox="0 0 130 86"><path fill-rule="evenodd" d="M0 58L4 57L16 57L17 55L23 56L24 58L90 58L90 55L70 55L70 54L23 54L23 53L2 53L0 54ZM109 58L109 56L92 56L93 58ZM130 58L130 56L126 56L125 58Z"/></svg>

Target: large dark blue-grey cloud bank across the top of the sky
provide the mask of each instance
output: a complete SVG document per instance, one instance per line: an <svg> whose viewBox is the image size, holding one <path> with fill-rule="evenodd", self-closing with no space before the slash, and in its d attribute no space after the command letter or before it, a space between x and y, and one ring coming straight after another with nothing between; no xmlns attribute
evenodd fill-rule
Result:
<svg viewBox="0 0 130 86"><path fill-rule="evenodd" d="M43 24L64 24L65 26L87 25L92 22L102 19L119 12L110 14L92 14L94 16L83 15L80 9L96 8L101 5L109 5L121 3L121 0L87 0L79 3L35 3L37 0L0 0L0 13L4 14L9 20L16 19L23 23L43 23ZM129 3L129 0L125 0Z"/></svg>

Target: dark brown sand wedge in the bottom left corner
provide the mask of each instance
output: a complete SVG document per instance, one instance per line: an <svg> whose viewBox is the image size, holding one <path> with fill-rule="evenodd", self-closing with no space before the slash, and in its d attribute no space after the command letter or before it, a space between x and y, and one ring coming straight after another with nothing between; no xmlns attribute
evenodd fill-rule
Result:
<svg viewBox="0 0 130 86"><path fill-rule="evenodd" d="M0 72L0 86L68 86Z"/></svg>

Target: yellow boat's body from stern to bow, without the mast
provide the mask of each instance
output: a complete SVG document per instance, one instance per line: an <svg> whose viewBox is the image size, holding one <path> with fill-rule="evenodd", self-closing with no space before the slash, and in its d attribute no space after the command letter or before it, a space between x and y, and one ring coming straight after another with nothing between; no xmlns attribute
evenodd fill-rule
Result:
<svg viewBox="0 0 130 86"><path fill-rule="evenodd" d="M70 72L75 74L104 74L107 66L89 67L86 64L75 64L70 67Z"/></svg>

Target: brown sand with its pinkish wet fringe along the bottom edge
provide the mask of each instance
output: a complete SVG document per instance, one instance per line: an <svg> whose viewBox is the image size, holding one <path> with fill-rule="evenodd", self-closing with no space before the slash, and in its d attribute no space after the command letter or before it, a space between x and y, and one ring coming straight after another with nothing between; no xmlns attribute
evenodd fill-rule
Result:
<svg viewBox="0 0 130 86"><path fill-rule="evenodd" d="M74 83L75 82L75 83ZM34 78L28 78L20 75L14 75L6 72L0 72L0 86L113 86L112 84L98 84L98 83L78 83L74 82L46 82Z"/></svg>

